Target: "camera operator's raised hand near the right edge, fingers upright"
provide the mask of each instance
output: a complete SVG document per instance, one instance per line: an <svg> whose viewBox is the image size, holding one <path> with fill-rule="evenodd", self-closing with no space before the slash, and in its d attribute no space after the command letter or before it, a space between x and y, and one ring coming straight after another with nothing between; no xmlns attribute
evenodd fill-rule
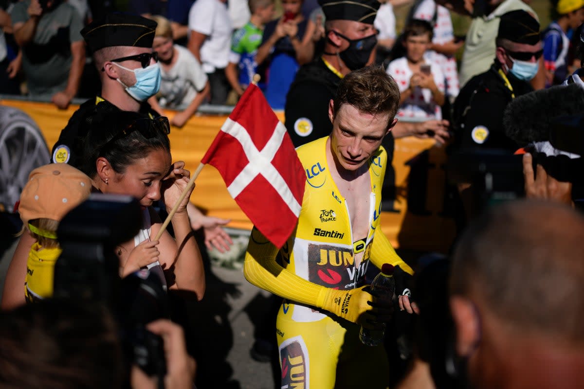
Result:
<svg viewBox="0 0 584 389"><path fill-rule="evenodd" d="M573 205L572 183L564 183L548 176L540 164L537 164L536 176L533 177L533 156L523 155L523 177L525 178L525 197L548 199L563 204Z"/></svg>

